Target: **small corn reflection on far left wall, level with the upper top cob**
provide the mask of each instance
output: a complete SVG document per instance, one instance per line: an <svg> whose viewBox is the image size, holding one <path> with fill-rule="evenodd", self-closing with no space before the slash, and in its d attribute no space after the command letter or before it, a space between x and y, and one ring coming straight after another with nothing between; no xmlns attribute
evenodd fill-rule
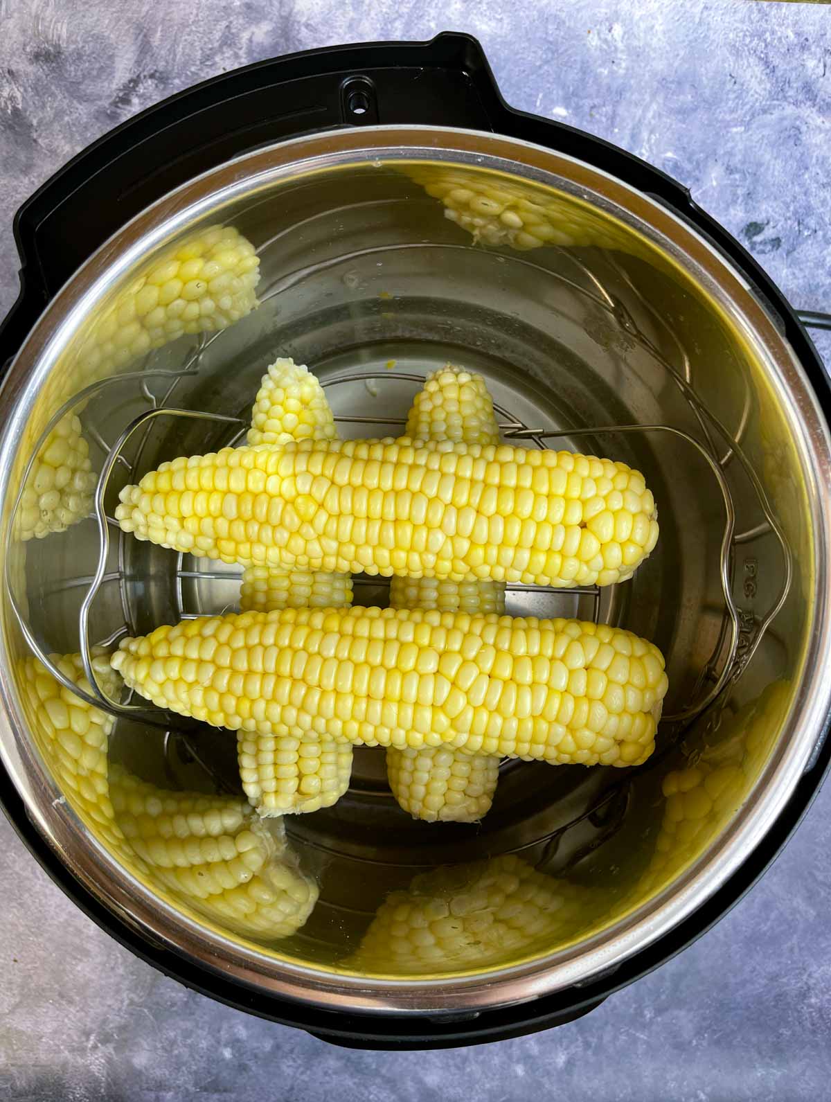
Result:
<svg viewBox="0 0 831 1102"><path fill-rule="evenodd" d="M35 456L14 517L14 536L31 540L65 532L89 515L96 482L80 421L67 413Z"/></svg>

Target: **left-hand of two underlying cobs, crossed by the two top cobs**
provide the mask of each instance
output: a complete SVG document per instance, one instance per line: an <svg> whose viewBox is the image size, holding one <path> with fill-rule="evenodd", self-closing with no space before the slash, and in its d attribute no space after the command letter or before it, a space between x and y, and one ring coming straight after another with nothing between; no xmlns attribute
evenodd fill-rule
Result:
<svg viewBox="0 0 831 1102"><path fill-rule="evenodd" d="M262 379L251 414L249 444L291 440L333 440L336 435L323 387L306 367L278 359ZM352 604L348 574L247 566L240 593L242 612L279 608L342 608ZM298 737L240 732L242 788L261 815L317 811L335 803L349 787L352 746L306 731Z"/></svg>

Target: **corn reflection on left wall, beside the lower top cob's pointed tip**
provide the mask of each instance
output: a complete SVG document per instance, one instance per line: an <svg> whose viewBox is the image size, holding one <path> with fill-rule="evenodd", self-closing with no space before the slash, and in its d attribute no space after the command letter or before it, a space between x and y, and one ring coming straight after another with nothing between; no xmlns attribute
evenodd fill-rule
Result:
<svg viewBox="0 0 831 1102"><path fill-rule="evenodd" d="M80 655L51 655L50 659L74 684L91 692ZM105 692L117 698L119 679L109 658L94 655L93 668ZM20 684L35 743L63 798L97 838L111 850L123 852L107 780L114 717L65 689L36 658L21 661Z"/></svg>

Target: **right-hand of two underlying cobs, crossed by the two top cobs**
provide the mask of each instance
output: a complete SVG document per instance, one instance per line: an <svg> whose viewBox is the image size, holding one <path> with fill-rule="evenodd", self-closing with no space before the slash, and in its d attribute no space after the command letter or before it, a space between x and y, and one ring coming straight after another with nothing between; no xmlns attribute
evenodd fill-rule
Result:
<svg viewBox="0 0 831 1102"><path fill-rule="evenodd" d="M415 396L407 421L412 440L453 440L496 444L499 426L481 375L463 368L435 371ZM392 577L392 608L439 612L505 612L505 583L487 579L439 582L433 577ZM387 750L387 777L399 806L427 822L476 822L490 809L499 778L499 758L465 754L449 746Z"/></svg>

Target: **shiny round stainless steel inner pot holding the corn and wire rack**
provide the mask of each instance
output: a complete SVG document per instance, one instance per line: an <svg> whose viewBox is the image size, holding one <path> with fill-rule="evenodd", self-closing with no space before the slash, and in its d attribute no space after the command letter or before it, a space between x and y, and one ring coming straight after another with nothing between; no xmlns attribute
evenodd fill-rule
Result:
<svg viewBox="0 0 831 1102"><path fill-rule="evenodd" d="M494 214L500 195L525 202L530 238ZM256 246L259 306L94 370L85 356L107 311L172 245L214 225ZM160 462L239 439L278 355L316 372L344 435L400 433L419 380L452 361L486 378L506 439L641 469L661 537L635 577L598 592L512 587L508 611L647 636L668 658L670 691L645 766L504 763L495 806L474 827L411 821L382 752L356 752L348 795L285 824L320 888L309 920L288 939L250 940L149 876L62 789L22 671L31 646L47 660L88 658L126 633L235 605L229 568L139 543L106 516L120 486ZM69 409L106 476L97 508L22 541L21 488ZM255 991L441 1015L587 982L671 930L748 857L821 736L831 465L816 399L723 257L579 161L493 134L366 127L225 164L130 223L63 289L11 368L3 413L6 766L39 830L108 908ZM382 580L358 580L359 603L386 596ZM238 790L233 735L165 726L130 713L137 703L112 702L111 764L161 788ZM562 905L558 926L526 929L505 901L510 875L488 869L506 854L546 878L536 883ZM402 894L384 910L391 893ZM487 951L470 927L458 944L413 938L408 921L430 908L451 932L471 915L512 932ZM373 923L376 955L369 942L360 950ZM384 951L396 938L410 939L409 954Z"/></svg>

